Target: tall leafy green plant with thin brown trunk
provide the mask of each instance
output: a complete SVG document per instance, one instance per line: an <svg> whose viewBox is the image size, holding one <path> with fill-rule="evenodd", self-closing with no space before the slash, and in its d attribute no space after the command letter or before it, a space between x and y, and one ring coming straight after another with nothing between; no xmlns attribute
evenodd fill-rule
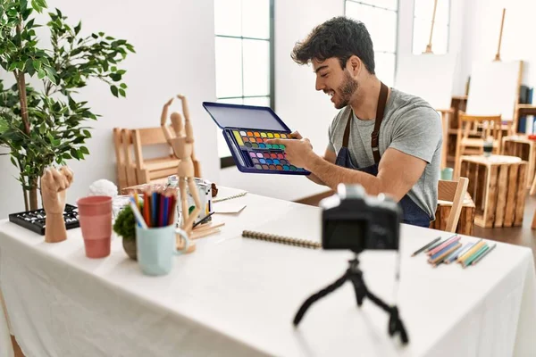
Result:
<svg viewBox="0 0 536 357"><path fill-rule="evenodd" d="M27 211L38 209L38 179L47 165L89 154L90 128L83 123L98 115L77 90L99 79L113 95L126 96L125 71L117 64L134 52L126 40L103 32L81 36L81 22L67 24L57 9L46 23L50 46L39 46L32 15L45 10L45 0L0 0L0 67L8 72L4 78L14 79L13 86L0 80L0 145L9 147L20 172Z"/></svg>

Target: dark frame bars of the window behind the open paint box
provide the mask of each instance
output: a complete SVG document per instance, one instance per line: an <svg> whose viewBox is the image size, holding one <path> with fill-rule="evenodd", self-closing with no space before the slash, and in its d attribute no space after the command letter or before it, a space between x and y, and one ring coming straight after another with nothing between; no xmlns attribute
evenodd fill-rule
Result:
<svg viewBox="0 0 536 357"><path fill-rule="evenodd" d="M243 0L244 1L244 0ZM243 37L243 36L229 36L229 35L218 35L214 31L214 39L217 37L224 37L224 38L236 38L240 39L240 41L243 41L244 39L253 39L253 40L259 40L259 41L267 41L269 43L270 48L270 59L269 59L269 68L270 68L270 79L269 79L269 85L270 85L270 94L268 95L270 98L270 107L273 111L275 111L275 29L274 29L274 3L275 0L270 0L270 37L268 39L266 38L258 38L258 37ZM243 56L243 54L242 54ZM244 71L244 62L242 62L242 72ZM242 88L244 87L244 79L242 78ZM222 97L216 97L216 100L221 99L245 99L245 98L261 98L265 97L266 95L244 95L242 92L241 96L222 96ZM234 159L232 156L225 156L220 157L220 169L225 169L229 167L236 166L236 163L234 162Z"/></svg>

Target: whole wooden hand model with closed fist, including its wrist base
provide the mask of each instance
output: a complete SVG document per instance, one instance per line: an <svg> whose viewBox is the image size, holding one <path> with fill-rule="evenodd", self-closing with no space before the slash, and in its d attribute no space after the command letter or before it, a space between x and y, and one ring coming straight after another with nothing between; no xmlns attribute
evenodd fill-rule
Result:
<svg viewBox="0 0 536 357"><path fill-rule="evenodd" d="M57 243L67 239L63 220L65 190L71 187L72 171L66 166L60 170L48 168L41 177L41 195L46 212L45 242Z"/></svg>

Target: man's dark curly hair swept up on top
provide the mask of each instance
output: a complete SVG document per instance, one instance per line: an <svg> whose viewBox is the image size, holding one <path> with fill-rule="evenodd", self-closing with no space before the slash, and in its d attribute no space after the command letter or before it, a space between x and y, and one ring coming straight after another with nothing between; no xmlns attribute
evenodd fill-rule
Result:
<svg viewBox="0 0 536 357"><path fill-rule="evenodd" d="M344 69L354 54L374 74L373 40L364 23L339 16L318 25L304 41L297 42L291 57L299 64L337 57Z"/></svg>

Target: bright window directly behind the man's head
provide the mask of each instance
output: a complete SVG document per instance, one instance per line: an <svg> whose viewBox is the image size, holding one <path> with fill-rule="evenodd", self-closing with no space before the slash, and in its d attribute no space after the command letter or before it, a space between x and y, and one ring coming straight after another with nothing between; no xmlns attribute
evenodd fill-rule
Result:
<svg viewBox="0 0 536 357"><path fill-rule="evenodd" d="M376 75L387 86L395 82L398 0L346 0L345 14L362 21L373 38Z"/></svg>

